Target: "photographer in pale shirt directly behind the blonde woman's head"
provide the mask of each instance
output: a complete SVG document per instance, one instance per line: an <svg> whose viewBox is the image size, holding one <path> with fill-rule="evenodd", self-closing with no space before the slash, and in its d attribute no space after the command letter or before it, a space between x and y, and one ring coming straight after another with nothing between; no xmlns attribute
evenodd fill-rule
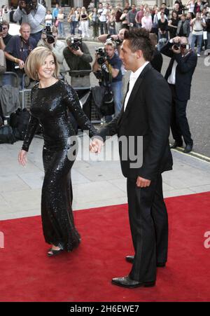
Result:
<svg viewBox="0 0 210 316"><path fill-rule="evenodd" d="M51 31L52 29L52 31ZM66 47L63 41L59 41L57 39L58 37L58 32L57 32L57 27L53 26L50 28L50 26L46 27L43 29L42 34L41 34L41 40L38 41L37 46L43 46L50 48L52 53L55 54L57 58L57 62L59 64L59 71L62 72L64 71L64 48Z"/></svg>

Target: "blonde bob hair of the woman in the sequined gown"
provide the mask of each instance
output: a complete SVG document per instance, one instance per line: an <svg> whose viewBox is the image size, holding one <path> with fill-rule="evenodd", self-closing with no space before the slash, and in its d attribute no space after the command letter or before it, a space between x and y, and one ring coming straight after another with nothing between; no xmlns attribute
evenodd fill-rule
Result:
<svg viewBox="0 0 210 316"><path fill-rule="evenodd" d="M27 76L29 76L29 78L35 81L38 80L38 69L43 65L43 62L49 55L52 55L54 58L54 76L58 79L59 66L55 54L52 53L52 50L43 46L38 46L34 48L34 50L32 50L29 56L27 57L27 60L25 62L25 73L27 74Z"/></svg>

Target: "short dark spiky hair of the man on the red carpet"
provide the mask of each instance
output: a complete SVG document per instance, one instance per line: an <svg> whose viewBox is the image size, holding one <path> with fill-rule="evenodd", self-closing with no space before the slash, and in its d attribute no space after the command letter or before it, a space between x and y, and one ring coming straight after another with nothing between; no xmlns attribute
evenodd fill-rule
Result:
<svg viewBox="0 0 210 316"><path fill-rule="evenodd" d="M125 32L124 39L130 41L130 49L133 53L141 50L145 60L150 62L153 59L154 46L146 29L133 29Z"/></svg>

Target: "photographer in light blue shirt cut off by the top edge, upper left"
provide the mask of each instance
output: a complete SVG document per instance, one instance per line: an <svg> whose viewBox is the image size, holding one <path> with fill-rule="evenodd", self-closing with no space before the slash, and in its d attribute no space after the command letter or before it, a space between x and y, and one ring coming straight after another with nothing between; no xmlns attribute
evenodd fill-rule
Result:
<svg viewBox="0 0 210 316"><path fill-rule="evenodd" d="M31 26L31 37L38 43L41 39L42 24L45 21L45 7L38 4L37 0L20 0L18 8L15 10L13 20L27 22Z"/></svg>

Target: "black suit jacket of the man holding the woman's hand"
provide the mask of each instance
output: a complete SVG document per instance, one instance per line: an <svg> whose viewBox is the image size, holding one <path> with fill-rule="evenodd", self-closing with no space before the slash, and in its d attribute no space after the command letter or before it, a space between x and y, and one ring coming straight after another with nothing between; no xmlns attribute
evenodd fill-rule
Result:
<svg viewBox="0 0 210 316"><path fill-rule="evenodd" d="M155 179L160 172L172 169L172 153L169 149L169 127L171 117L172 97L169 85L162 75L147 64L137 79L127 107L99 132L106 136L118 134L127 138L127 147L137 151L138 136L143 137L143 164L141 167L131 167L134 160L127 156L119 142L120 163L125 177ZM130 141L129 136L132 137Z"/></svg>

